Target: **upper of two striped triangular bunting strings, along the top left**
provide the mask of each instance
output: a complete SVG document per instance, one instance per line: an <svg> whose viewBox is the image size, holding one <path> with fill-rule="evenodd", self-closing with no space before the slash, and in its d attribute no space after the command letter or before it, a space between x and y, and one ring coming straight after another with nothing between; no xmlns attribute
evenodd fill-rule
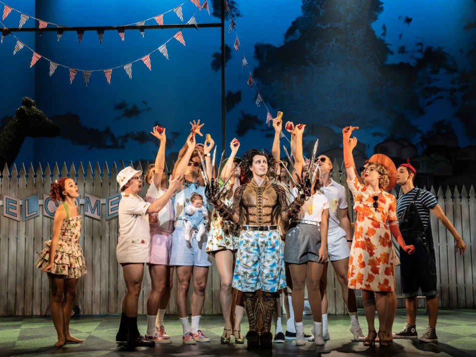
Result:
<svg viewBox="0 0 476 357"><path fill-rule="evenodd" d="M180 19L180 21L183 22L182 6L189 3L189 2L193 3L198 8L199 11L201 9L207 10L208 15L210 15L210 9L208 7L208 2L205 2L206 5L205 5L205 3L200 5L200 0L187 0L184 3L180 4L179 6L173 8L173 9L170 9L170 10L168 10L168 11L166 11L166 12L160 14L160 15L153 16L149 19L145 19L145 20L139 21L139 22L134 23L134 24L113 26L113 28L117 28L117 32L119 33L119 36L121 37L123 42L124 42L124 28L126 26L137 26L137 28L139 29L142 37L144 37L144 32L145 32L144 30L145 30L145 22L146 21L155 20L158 25L164 26L164 15L173 11L175 13L175 15L177 15L177 17ZM26 14L18 11L17 9L14 9L14 8L8 6L7 4L5 4L2 1L0 1L0 4L4 5L2 21L4 21L12 11L16 11L17 13L20 14L20 24L19 24L20 29L23 27L23 25L25 25L25 23L27 22L28 19L33 19L33 20L39 21L40 36L42 35L42 31L41 31L42 29L45 29L48 25L52 25L52 26L57 27L58 41L60 41L61 36L64 33L64 29L69 27L69 26L58 25L58 24L51 23L51 22L48 22L48 21L40 20L40 19L37 19L37 18L35 18L33 16L30 16L30 15L26 15ZM195 18L190 19L190 21L187 22L187 25L189 25L189 24L194 25L198 30ZM77 32L77 35L78 35L78 41L79 41L79 43L81 43L81 40L83 39L83 35L84 35L85 30L84 29L79 29L76 32ZM98 34L99 43L102 43L102 40L103 40L103 37L104 37L104 29L98 29L98 30L96 30L96 32ZM3 40L3 38L2 38L2 40Z"/></svg>

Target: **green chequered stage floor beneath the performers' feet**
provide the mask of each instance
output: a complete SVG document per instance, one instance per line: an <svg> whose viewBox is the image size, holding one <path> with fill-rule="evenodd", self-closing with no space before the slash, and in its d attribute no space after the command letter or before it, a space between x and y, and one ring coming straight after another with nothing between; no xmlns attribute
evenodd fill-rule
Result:
<svg viewBox="0 0 476 357"><path fill-rule="evenodd" d="M367 323L363 311L359 311L360 322L367 332ZM285 317L285 316L283 316ZM129 349L115 343L115 335L119 326L119 315L79 316L71 320L71 334L84 339L82 344L69 344L56 348L56 332L50 318L41 317L1 317L0 318L0 356L25 355L46 356L61 354L62 356L104 356L104 355L166 355L166 356L311 356L334 355L433 355L438 356L476 356L476 310L453 309L440 310L436 333L438 343L420 343L416 340L395 340L388 347L364 347L362 342L350 340L348 316L329 316L331 340L325 346L316 346L307 342L305 346L296 347L292 341L275 343L272 351L262 349L248 350L245 345L220 344L223 329L221 315L206 315L200 320L200 328L211 342L197 345L184 345L181 342L181 325L177 316L165 316L167 333L172 336L173 343L156 345L150 348ZM394 322L394 331L401 329L406 321L404 309L399 309ZM418 312L417 331L421 335L427 324L423 310ZM309 333L312 324L311 316L305 316L305 331ZM139 330L145 333L147 318L139 316ZM246 334L248 323L246 317L242 330ZM284 325L286 327L286 325ZM234 339L231 338L233 341ZM385 351L383 351L385 348Z"/></svg>

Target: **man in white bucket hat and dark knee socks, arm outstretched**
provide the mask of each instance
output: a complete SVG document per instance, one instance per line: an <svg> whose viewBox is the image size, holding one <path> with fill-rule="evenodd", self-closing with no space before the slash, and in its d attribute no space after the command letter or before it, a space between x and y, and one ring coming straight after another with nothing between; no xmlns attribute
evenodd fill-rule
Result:
<svg viewBox="0 0 476 357"><path fill-rule="evenodd" d="M155 342L140 335L137 328L137 301L142 287L144 263L149 262L149 213L158 213L183 183L183 175L170 181L169 189L150 204L139 197L142 171L128 166L117 174L121 190L119 203L119 238L116 247L122 265L127 292L122 301L122 316L116 341L129 346L154 346Z"/></svg>

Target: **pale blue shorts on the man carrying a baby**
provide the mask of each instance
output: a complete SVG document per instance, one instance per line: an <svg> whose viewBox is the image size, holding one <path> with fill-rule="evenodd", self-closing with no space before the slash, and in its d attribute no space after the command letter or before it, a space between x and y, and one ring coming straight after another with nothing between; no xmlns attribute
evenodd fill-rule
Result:
<svg viewBox="0 0 476 357"><path fill-rule="evenodd" d="M175 228L172 233L172 254L170 257L170 265L186 265L197 267L209 267L211 258L205 253L207 239L185 240L185 229Z"/></svg>

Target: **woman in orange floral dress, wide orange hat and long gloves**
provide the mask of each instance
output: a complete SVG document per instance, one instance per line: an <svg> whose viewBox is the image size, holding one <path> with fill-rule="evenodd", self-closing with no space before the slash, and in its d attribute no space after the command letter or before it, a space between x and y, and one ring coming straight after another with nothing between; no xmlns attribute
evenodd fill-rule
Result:
<svg viewBox="0 0 476 357"><path fill-rule="evenodd" d="M359 183L349 146L353 129L358 127L345 127L342 131L347 181L354 196L354 210L357 213L347 277L350 289L362 290L365 317L369 326L364 345L372 345L377 337L374 323L375 309L379 320L379 343L388 345L385 340L388 292L395 291L392 235L406 252L411 254L414 248L405 245L398 229L395 197L384 191L389 191L395 186L395 165L389 157L378 155L362 172L362 178L367 185Z"/></svg>

